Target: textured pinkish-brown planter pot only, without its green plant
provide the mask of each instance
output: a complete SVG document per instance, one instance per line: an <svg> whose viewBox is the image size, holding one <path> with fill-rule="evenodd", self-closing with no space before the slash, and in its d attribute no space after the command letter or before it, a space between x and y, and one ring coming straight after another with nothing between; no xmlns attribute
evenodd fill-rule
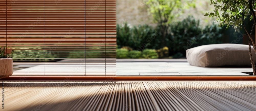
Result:
<svg viewBox="0 0 256 111"><path fill-rule="evenodd" d="M13 74L13 59L0 58L0 79Z"/></svg>

